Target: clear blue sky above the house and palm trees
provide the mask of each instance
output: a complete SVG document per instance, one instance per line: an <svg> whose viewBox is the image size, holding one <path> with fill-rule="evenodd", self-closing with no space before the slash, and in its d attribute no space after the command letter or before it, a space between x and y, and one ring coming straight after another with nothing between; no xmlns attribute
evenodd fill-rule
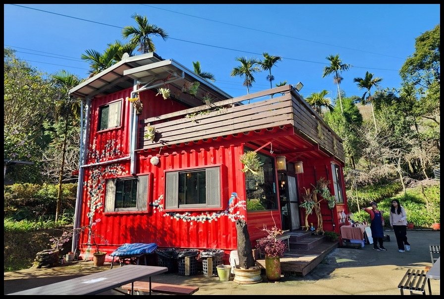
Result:
<svg viewBox="0 0 444 299"><path fill-rule="evenodd" d="M366 71L383 78L382 88L398 88L399 69L414 53L415 38L440 23L440 8L439 4L4 4L3 42L41 71L66 69L85 78L89 67L80 60L81 54L87 49L103 53L108 43L125 41L121 28L135 26L131 15L139 13L170 37L153 38L158 55L191 70L192 61L199 60L204 71L215 75L215 84L233 97L247 93L243 79L230 76L239 64L235 58L261 59L268 52L283 58L272 69L273 85L300 81L303 96L326 89L334 99L333 76L322 78L324 66L329 65L327 56L338 54L353 65L342 73L341 89L347 96L363 94L353 78L364 77ZM255 74L251 92L270 88L267 74Z"/></svg>

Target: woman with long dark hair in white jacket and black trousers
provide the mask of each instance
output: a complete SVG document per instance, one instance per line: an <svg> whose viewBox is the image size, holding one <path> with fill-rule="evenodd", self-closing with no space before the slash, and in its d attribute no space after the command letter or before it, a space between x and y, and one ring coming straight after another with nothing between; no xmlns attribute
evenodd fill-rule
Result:
<svg viewBox="0 0 444 299"><path fill-rule="evenodd" d="M397 199L391 201L390 226L393 228L394 235L396 236L398 251L410 251L410 244L407 241L407 214Z"/></svg>

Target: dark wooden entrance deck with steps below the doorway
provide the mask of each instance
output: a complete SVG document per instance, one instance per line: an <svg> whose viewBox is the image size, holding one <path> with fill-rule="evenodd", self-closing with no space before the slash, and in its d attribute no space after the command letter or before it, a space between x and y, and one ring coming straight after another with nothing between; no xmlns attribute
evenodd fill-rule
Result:
<svg viewBox="0 0 444 299"><path fill-rule="evenodd" d="M280 267L284 274L305 276L338 247L338 242L327 241L324 236L311 236L311 233L302 231L290 234L293 234L290 237L290 250L280 258ZM265 269L265 259L258 259L256 262Z"/></svg>

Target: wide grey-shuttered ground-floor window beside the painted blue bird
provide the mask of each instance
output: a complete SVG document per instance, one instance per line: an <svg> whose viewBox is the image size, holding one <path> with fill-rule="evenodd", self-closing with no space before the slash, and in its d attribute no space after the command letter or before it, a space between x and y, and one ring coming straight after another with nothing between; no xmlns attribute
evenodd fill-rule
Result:
<svg viewBox="0 0 444 299"><path fill-rule="evenodd" d="M220 208L221 168L167 172L165 193L166 210Z"/></svg>

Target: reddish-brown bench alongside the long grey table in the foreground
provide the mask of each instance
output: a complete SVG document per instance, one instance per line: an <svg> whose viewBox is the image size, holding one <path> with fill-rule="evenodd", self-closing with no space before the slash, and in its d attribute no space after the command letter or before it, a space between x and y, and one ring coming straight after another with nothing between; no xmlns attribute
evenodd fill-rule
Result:
<svg viewBox="0 0 444 299"><path fill-rule="evenodd" d="M120 288L127 290L128 294L131 294L131 284L126 284ZM134 292L150 292L150 283L147 281L135 281L134 282ZM192 295L199 291L198 287L190 286L180 286L180 285L169 285L162 283L151 283L151 292L153 293L163 293L169 295Z"/></svg>

